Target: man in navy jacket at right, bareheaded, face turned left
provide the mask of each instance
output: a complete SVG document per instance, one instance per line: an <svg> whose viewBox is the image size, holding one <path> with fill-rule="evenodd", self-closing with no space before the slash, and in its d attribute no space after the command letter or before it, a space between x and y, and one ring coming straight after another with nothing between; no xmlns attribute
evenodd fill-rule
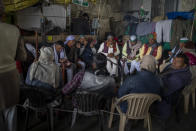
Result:
<svg viewBox="0 0 196 131"><path fill-rule="evenodd" d="M164 86L163 96L168 96L190 84L191 72L186 55L178 54L172 64L161 72L160 76Z"/></svg>

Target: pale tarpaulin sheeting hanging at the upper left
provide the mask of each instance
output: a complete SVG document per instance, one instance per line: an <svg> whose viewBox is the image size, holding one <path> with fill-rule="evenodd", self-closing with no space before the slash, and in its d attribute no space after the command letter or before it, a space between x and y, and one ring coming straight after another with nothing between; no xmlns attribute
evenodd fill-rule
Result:
<svg viewBox="0 0 196 131"><path fill-rule="evenodd" d="M66 29L66 8L63 5L50 5L43 7L43 13L38 7L29 7L18 11L17 24L26 30L40 29L42 17L46 17L52 25L49 27L60 27ZM48 29L50 30L50 29Z"/></svg>

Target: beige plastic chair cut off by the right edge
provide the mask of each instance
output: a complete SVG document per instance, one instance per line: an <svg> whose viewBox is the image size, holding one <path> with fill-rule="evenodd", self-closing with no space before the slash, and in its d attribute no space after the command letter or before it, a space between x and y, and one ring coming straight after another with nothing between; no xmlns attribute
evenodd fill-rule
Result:
<svg viewBox="0 0 196 131"><path fill-rule="evenodd" d="M192 73L191 85L184 88L182 94L184 95L184 113L189 112L189 100L192 96L192 106L195 109L195 88L196 88L196 66L190 66L190 71Z"/></svg>

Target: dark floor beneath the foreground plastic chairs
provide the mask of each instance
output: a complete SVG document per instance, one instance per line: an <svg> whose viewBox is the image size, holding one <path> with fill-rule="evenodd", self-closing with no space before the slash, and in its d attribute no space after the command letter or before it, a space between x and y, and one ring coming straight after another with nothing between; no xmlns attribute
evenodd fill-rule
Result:
<svg viewBox="0 0 196 131"><path fill-rule="evenodd" d="M196 110L193 110L190 107L189 114L185 115L183 112L183 105L181 106L181 114L180 114L180 122L176 122L175 116L172 116L170 120L167 121L166 129L163 128L163 123L152 117L152 131L196 131ZM55 117L55 130L54 131L99 131L99 121L96 117L84 117L79 116L74 127L70 129L71 126L71 113L55 113L57 114ZM23 131L24 128L24 112L20 112L20 124L19 131ZM119 116L115 116L112 128L107 128L108 123L108 114L104 113L104 131L118 131L119 125ZM31 124L32 124L31 119ZM147 131L147 129L143 128L143 121L137 121L132 127L131 123L135 123L133 121L129 121L126 126L126 131ZM47 122L44 122L37 126L36 128L31 129L30 131L47 131Z"/></svg>

